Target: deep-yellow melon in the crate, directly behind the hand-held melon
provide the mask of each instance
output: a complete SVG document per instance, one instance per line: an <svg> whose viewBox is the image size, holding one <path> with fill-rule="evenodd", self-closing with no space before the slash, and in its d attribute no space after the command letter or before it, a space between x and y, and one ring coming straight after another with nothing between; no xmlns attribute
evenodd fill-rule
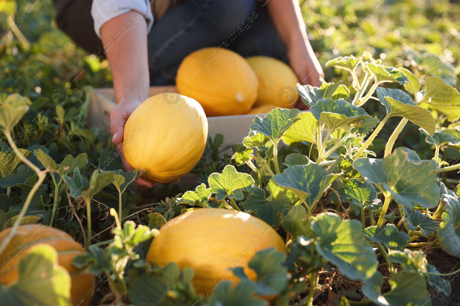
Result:
<svg viewBox="0 0 460 306"><path fill-rule="evenodd" d="M197 100L207 116L244 114L257 98L257 77L251 66L239 54L217 47L186 56L176 85L182 95Z"/></svg>

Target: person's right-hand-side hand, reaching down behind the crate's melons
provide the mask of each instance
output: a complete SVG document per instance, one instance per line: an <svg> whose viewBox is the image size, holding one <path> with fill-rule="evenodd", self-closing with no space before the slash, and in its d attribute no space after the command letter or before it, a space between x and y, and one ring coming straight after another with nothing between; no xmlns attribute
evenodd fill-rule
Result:
<svg viewBox="0 0 460 306"><path fill-rule="evenodd" d="M288 58L300 84L321 86L319 77L324 78L324 72L308 41L305 42L304 39L293 40L293 44L288 48Z"/></svg>

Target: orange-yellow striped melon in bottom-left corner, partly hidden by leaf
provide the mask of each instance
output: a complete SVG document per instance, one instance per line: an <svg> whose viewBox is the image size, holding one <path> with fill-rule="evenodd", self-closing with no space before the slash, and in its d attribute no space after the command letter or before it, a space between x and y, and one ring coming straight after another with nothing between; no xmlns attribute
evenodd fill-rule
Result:
<svg viewBox="0 0 460 306"><path fill-rule="evenodd" d="M0 245L11 228L0 232ZM57 251L57 263L69 271L71 278L70 295L72 303L78 306L87 306L92 300L94 291L94 274L86 269L74 266L75 256L83 254L83 247L69 234L42 224L21 225L17 228L10 243L0 254L0 283L7 285L19 278L17 265L22 254L26 254L30 247L36 244L51 245ZM1 303L0 303L1 304Z"/></svg>

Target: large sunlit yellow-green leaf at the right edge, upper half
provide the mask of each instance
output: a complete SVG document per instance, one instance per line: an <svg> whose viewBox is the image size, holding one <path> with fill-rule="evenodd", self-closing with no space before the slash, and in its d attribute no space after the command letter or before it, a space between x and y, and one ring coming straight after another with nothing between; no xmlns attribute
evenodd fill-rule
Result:
<svg viewBox="0 0 460 306"><path fill-rule="evenodd" d="M425 79L425 94L419 101L435 107L454 122L460 118L460 93L442 78L428 77Z"/></svg>

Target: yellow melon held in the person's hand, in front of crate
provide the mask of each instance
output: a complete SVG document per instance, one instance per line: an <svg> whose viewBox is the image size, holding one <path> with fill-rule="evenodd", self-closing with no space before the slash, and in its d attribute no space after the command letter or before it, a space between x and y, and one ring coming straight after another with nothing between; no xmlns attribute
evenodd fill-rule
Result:
<svg viewBox="0 0 460 306"><path fill-rule="evenodd" d="M126 161L150 182L171 183L195 167L207 140L207 119L196 100L163 93L141 103L123 135Z"/></svg>

